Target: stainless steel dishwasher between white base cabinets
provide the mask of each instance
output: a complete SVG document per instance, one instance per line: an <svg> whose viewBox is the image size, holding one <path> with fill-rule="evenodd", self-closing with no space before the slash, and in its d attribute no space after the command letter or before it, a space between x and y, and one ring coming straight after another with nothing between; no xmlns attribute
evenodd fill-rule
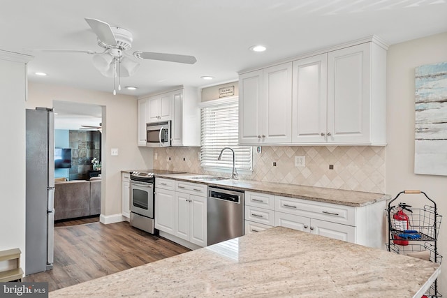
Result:
<svg viewBox="0 0 447 298"><path fill-rule="evenodd" d="M244 235L244 192L208 187L207 245Z"/></svg>

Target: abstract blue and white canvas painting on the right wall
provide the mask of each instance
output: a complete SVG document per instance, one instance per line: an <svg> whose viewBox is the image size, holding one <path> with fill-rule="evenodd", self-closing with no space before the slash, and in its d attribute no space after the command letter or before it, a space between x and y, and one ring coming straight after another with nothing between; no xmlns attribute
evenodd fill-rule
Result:
<svg viewBox="0 0 447 298"><path fill-rule="evenodd" d="M414 172L447 176L447 62L416 68Z"/></svg>

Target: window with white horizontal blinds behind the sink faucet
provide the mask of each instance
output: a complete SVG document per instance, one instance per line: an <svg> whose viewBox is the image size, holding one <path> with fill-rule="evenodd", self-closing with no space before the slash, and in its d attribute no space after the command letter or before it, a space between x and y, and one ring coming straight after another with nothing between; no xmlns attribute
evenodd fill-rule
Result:
<svg viewBox="0 0 447 298"><path fill-rule="evenodd" d="M221 150L230 147L235 151L235 165L238 172L251 171L251 147L237 145L239 126L237 98L211 100L202 103L201 106L200 165L207 170L232 170L233 153L230 150L223 151L221 161L217 161Z"/></svg>

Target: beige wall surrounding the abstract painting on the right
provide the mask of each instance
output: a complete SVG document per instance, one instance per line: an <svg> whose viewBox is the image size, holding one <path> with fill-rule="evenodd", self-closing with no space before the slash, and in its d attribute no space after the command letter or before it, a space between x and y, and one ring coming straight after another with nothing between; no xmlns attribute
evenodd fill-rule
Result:
<svg viewBox="0 0 447 298"><path fill-rule="evenodd" d="M425 191L437 202L439 214L445 218L447 177L414 174L414 68L444 61L447 61L447 32L392 45L388 49L386 193L394 197L406 189ZM419 206L428 201L418 195L401 195L397 202ZM439 251L444 258L447 258L446 225L446 222L441 223L439 233ZM438 284L441 294L447 295L446 262L442 267L444 272L441 272Z"/></svg>

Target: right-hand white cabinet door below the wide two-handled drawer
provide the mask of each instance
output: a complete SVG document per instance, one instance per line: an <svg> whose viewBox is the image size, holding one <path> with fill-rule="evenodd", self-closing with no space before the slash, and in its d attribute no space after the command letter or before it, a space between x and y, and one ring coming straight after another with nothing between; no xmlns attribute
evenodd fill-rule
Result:
<svg viewBox="0 0 447 298"><path fill-rule="evenodd" d="M328 221L320 221L318 219L311 219L310 230L312 234L339 239L355 243L356 228L350 225L340 225L339 223L330 223Z"/></svg>

